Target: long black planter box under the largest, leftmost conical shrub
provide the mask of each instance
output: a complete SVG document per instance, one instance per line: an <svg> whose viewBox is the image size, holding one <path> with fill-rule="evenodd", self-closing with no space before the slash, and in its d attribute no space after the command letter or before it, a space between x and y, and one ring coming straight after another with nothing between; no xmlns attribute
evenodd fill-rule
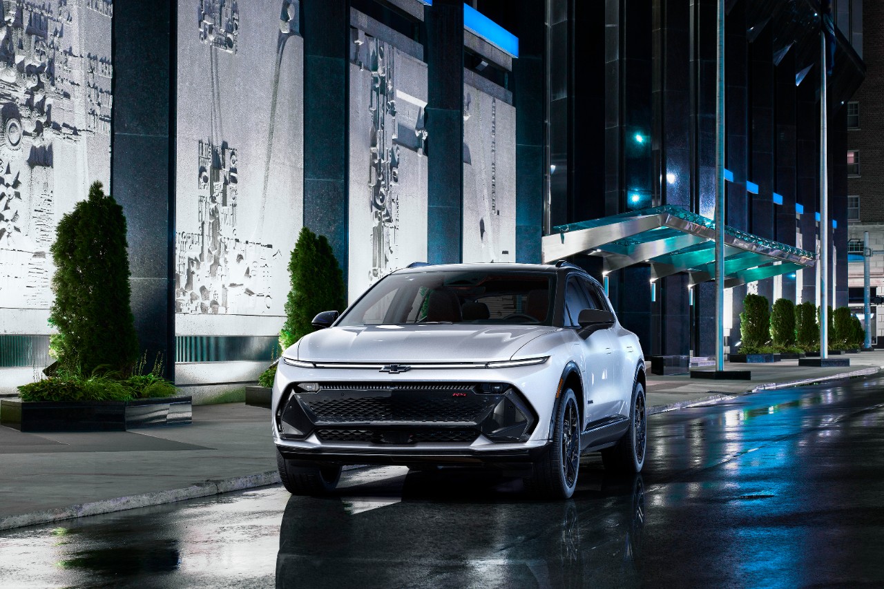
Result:
<svg viewBox="0 0 884 589"><path fill-rule="evenodd" d="M0 424L20 432L126 432L189 424L191 418L189 396L135 401L0 401Z"/></svg>

